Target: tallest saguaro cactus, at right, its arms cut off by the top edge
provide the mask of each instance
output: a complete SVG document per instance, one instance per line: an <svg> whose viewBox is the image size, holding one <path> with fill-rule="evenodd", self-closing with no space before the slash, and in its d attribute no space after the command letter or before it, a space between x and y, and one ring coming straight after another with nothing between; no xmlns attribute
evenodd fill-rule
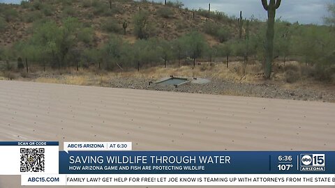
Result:
<svg viewBox="0 0 335 188"><path fill-rule="evenodd" d="M274 17L276 9L281 6L281 0L262 0L262 5L267 10L267 39L265 44L265 78L269 79L272 71L272 61L274 60Z"/></svg>

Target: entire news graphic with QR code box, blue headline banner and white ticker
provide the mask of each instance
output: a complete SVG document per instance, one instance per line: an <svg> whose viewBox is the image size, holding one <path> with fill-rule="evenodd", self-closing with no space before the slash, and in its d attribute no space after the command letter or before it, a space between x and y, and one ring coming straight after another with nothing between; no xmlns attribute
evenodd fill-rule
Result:
<svg viewBox="0 0 335 188"><path fill-rule="evenodd" d="M22 185L335 185L334 151L133 151L131 142L0 141Z"/></svg>

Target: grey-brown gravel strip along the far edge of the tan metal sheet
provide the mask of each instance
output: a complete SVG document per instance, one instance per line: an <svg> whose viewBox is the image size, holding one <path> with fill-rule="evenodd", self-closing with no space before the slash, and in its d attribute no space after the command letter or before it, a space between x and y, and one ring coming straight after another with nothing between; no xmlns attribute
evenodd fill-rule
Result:
<svg viewBox="0 0 335 188"><path fill-rule="evenodd" d="M151 91L172 91L182 93L203 93L211 95L239 95L246 97L265 97L288 100L306 100L334 102L335 93L315 91L311 89L295 88L287 90L276 86L276 84L248 84L234 81L214 80L209 84L184 84L175 88L161 84L151 84L147 79L121 78L113 79L103 84L113 88L133 88Z"/></svg>

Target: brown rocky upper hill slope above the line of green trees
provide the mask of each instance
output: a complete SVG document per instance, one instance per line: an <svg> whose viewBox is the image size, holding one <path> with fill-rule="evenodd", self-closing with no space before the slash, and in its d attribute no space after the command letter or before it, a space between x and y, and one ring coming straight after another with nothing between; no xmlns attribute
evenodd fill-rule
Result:
<svg viewBox="0 0 335 188"><path fill-rule="evenodd" d="M2 17L9 21L6 28L1 30L0 45L10 46L15 42L27 39L31 36L36 22L45 22L52 19L61 23L66 17L77 17L84 25L84 28L94 30L94 40L91 45L98 46L105 42L110 33L122 36L123 23L127 22L126 35L124 39L134 42L133 15L140 11L149 13L148 22L151 22L152 36L172 40L188 33L191 30L203 31L204 24L213 22L218 25L227 25L237 33L237 20L229 18L224 13L211 13L214 17L208 17L207 10L188 10L181 8L181 2L169 2L167 6L161 3L149 1L117 1L113 0L110 6L105 0L31 0L21 5L1 4ZM193 12L195 17L193 18ZM235 22L236 21L236 22ZM3 24L3 23L2 23ZM214 43L216 40L207 36Z"/></svg>

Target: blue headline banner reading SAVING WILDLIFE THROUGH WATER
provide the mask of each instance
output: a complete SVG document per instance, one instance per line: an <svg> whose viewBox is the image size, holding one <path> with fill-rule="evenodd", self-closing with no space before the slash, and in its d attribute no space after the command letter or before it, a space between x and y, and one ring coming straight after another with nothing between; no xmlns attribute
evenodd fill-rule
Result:
<svg viewBox="0 0 335 188"><path fill-rule="evenodd" d="M335 174L335 152L70 151L60 174Z"/></svg>

